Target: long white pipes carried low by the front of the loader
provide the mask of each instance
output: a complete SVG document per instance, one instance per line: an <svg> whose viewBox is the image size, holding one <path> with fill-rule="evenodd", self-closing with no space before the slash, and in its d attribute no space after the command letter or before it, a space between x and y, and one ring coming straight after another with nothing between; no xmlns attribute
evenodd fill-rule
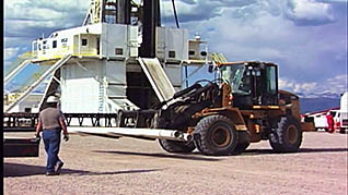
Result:
<svg viewBox="0 0 348 195"><path fill-rule="evenodd" d="M172 141L192 141L192 135L176 130L161 129L135 129L135 127L82 127L68 126L68 132L71 134L116 134L120 136L140 136L148 138L164 138Z"/></svg>

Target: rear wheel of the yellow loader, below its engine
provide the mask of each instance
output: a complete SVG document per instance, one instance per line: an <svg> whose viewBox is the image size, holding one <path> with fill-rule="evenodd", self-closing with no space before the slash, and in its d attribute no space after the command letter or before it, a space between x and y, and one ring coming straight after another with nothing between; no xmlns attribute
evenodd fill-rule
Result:
<svg viewBox="0 0 348 195"><path fill-rule="evenodd" d="M298 120L293 117L282 117L278 127L270 133L269 144L275 151L294 153L302 143L302 130Z"/></svg>

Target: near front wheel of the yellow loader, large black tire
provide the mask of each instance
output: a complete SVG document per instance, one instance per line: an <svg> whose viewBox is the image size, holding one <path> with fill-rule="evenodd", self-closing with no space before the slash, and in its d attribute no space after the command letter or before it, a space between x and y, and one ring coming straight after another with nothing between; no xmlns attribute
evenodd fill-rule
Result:
<svg viewBox="0 0 348 195"><path fill-rule="evenodd" d="M202 118L196 125L195 134L195 144L204 155L232 154L237 143L233 122L220 114Z"/></svg>

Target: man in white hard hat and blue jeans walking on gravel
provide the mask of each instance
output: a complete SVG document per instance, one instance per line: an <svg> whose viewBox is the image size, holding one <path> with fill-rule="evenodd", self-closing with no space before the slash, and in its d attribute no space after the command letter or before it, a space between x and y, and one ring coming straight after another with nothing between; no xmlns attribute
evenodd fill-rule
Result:
<svg viewBox="0 0 348 195"><path fill-rule="evenodd" d="M47 98L47 108L39 112L38 123L36 126L36 137L43 131L43 139L47 154L46 175L57 175L60 173L63 162L59 159L58 153L60 147L60 132L63 132L63 139L69 141L69 134L65 122L65 115L57 108L59 98L49 96Z"/></svg>

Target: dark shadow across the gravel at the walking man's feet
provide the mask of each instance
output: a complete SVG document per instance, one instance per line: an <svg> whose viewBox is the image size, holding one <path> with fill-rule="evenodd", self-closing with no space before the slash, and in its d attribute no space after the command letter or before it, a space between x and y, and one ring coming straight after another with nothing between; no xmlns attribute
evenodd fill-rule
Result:
<svg viewBox="0 0 348 195"><path fill-rule="evenodd" d="M140 169L140 170L126 170L126 171L109 171L109 172L93 172L73 169L62 169L60 175L105 175L105 174L130 174L130 173L144 173L161 171L163 169ZM31 175L44 175L46 167L42 166L30 166L23 163L3 163L3 178L19 178L19 176L31 176Z"/></svg>

